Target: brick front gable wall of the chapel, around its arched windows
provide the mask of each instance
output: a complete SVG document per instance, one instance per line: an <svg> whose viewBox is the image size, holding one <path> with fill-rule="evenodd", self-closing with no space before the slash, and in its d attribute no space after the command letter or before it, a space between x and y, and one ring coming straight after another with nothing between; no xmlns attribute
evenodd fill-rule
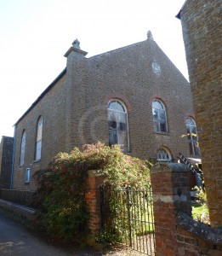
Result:
<svg viewBox="0 0 222 256"><path fill-rule="evenodd" d="M154 59L161 67L159 75L151 70ZM88 61L86 142L108 142L107 97L116 95L128 108L129 150L134 156L156 157L162 146L175 157L178 150L189 155L186 138L180 136L186 132L187 115L193 116L190 84L155 41L147 39ZM161 99L167 108L168 134L153 131L154 98Z"/></svg>

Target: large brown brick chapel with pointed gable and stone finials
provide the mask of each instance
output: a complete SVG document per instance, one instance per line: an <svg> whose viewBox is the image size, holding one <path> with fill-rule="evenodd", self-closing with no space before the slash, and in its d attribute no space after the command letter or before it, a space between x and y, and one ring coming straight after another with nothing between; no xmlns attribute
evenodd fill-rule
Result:
<svg viewBox="0 0 222 256"><path fill-rule="evenodd" d="M190 84L151 32L144 42L85 55L74 41L65 70L16 122L14 189L35 188L34 172L85 143L119 143L146 160L199 156L196 142L181 137L187 119L195 124Z"/></svg>

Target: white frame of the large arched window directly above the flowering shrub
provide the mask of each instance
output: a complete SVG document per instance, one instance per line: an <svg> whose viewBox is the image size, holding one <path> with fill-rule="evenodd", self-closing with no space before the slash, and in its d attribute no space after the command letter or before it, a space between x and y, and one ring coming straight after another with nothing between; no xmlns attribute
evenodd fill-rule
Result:
<svg viewBox="0 0 222 256"><path fill-rule="evenodd" d="M120 104L121 105L121 107L122 107L122 111L120 111L120 110L117 110L117 109L112 109L112 108L110 108L110 105L111 105L111 103L113 103L113 102L117 102L118 104ZM108 111L112 111L113 113L115 113L115 115L116 114L118 114L118 113L125 113L126 114L126 120L127 120L127 127L126 127L126 129L127 129L127 145L123 145L123 148L122 148L122 151L123 152L129 152L129 136L128 136L128 111L127 111L127 108L126 108L126 106L125 106L125 104L121 101L121 100L119 100L119 99L111 99L111 101L108 103L108 105L107 105L107 112ZM109 115L108 115L108 118L109 118ZM109 122L109 119L108 119L108 122ZM108 125L108 131L109 131L109 145L111 146L112 144L110 143L110 132L111 132L111 129L109 128L109 125ZM113 143L114 144L114 143ZM118 128L117 128L117 145L122 145L121 143L119 143L119 132L118 132Z"/></svg>

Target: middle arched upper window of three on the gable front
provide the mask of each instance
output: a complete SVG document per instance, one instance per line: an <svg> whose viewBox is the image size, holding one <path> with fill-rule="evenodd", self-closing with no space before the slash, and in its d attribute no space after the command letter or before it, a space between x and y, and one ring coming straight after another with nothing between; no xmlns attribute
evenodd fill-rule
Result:
<svg viewBox="0 0 222 256"><path fill-rule="evenodd" d="M152 102L152 118L154 131L156 132L167 132L167 115L164 105L159 100Z"/></svg>

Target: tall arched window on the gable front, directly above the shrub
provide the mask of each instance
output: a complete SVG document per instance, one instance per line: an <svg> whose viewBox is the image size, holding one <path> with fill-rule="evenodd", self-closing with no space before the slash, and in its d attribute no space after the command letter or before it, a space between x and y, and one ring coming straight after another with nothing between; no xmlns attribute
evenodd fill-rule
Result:
<svg viewBox="0 0 222 256"><path fill-rule="evenodd" d="M128 151L128 113L122 102L112 100L108 103L109 145L122 145Z"/></svg>

